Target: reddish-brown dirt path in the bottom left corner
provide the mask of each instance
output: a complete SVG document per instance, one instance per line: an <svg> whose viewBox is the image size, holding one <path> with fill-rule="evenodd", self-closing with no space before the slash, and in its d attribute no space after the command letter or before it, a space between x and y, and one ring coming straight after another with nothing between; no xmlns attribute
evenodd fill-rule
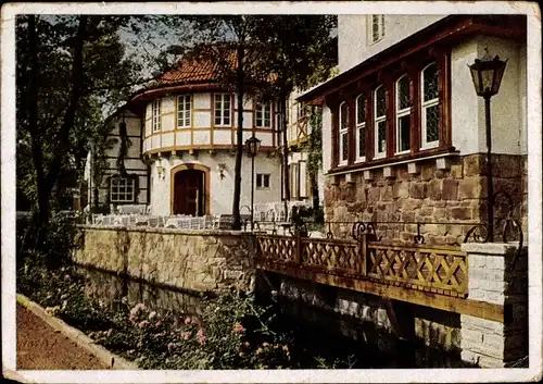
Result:
<svg viewBox="0 0 543 384"><path fill-rule="evenodd" d="M17 370L108 369L94 356L17 302Z"/></svg>

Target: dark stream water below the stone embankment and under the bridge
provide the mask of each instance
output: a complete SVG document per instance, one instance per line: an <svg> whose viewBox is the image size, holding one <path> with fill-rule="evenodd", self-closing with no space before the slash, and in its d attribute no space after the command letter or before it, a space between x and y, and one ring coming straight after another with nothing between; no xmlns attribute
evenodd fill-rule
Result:
<svg viewBox="0 0 543 384"><path fill-rule="evenodd" d="M197 313L202 306L202 295L195 292L175 289L151 284L144 281L118 276L102 270L79 268L79 273L86 276L86 293L88 296L102 300L114 308L116 302L126 297L134 306L143 302L148 308L159 313L175 311L179 314ZM295 350L292 358L298 359L303 367L318 368L316 357L326 357L327 361L341 359L343 364L337 368L348 368L344 361L351 361L351 368L450 368L463 367L458 356L452 356L441 350L428 348L419 343L402 342L392 335L378 333L369 325L361 324L359 320L331 319L326 324L307 321L307 315L301 318L293 313L315 311L314 308L288 300L267 300L273 305L276 318L273 327L277 332L291 332L295 335ZM304 308L301 308L303 306ZM115 308L114 308L115 309ZM311 314L308 315L312 317ZM321 318L321 313L319 314ZM330 326L330 324L338 324ZM363 339L353 339L338 332L340 327L357 330L366 335ZM361 329L363 332L361 333ZM331 368L331 367L329 367Z"/></svg>

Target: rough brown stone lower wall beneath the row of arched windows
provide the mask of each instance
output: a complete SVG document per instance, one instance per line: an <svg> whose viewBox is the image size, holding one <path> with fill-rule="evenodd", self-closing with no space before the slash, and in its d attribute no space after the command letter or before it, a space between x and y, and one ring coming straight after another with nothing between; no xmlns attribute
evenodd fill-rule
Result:
<svg viewBox="0 0 543 384"><path fill-rule="evenodd" d="M494 191L513 197L526 238L527 157L493 154L493 176ZM325 220L345 222L331 226L336 237L346 236L350 222L362 220L377 222L383 239L406 243L417 234L413 222L447 223L421 225L425 243L459 245L472 226L460 223L485 221L485 154L420 160L328 176ZM494 216L503 213L497 207Z"/></svg>

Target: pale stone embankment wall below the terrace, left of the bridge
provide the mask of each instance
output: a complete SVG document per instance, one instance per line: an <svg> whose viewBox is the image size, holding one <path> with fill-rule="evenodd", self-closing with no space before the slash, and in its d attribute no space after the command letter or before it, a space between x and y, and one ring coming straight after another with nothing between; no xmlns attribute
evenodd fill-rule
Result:
<svg viewBox="0 0 543 384"><path fill-rule="evenodd" d="M77 264L199 292L248 290L254 284L249 234L91 225L80 231Z"/></svg>

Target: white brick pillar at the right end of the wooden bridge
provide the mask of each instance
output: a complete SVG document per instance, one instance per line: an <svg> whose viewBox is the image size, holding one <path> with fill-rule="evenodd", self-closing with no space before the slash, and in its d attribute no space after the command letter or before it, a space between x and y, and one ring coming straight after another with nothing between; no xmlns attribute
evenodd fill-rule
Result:
<svg viewBox="0 0 543 384"><path fill-rule="evenodd" d="M528 255L507 244L465 244L469 253L468 298L504 306L505 322L467 314L462 321L462 358L503 368L528 356ZM516 259L516 262L514 260Z"/></svg>

